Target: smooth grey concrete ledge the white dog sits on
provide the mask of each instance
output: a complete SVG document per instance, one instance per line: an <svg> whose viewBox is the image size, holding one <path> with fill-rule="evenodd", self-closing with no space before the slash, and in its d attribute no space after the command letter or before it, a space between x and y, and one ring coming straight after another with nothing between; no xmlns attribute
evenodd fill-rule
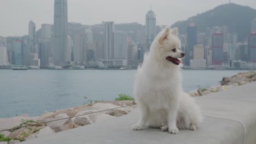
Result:
<svg viewBox="0 0 256 144"><path fill-rule="evenodd" d="M256 143L256 82L197 99L205 116L196 131L131 130L139 112L21 143Z"/></svg>

